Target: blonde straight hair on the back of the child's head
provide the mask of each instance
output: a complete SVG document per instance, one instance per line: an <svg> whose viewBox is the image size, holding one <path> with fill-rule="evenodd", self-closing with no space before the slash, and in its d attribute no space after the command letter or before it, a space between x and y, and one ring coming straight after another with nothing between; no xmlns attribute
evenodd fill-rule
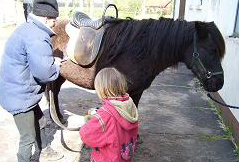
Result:
<svg viewBox="0 0 239 162"><path fill-rule="evenodd" d="M94 82L100 99L117 97L127 92L125 77L115 68L104 68L99 71Z"/></svg>

